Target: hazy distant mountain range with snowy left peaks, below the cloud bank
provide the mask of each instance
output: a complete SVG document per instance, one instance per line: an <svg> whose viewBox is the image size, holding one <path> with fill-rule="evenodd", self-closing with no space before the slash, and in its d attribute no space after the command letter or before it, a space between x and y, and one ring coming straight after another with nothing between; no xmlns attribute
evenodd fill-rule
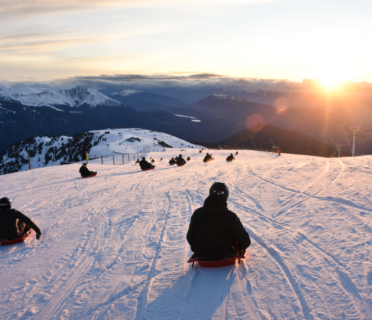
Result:
<svg viewBox="0 0 372 320"><path fill-rule="evenodd" d="M178 98L140 90L121 89L106 96L82 86L48 89L0 85L0 152L38 135L73 136L111 126L153 129L186 141L218 143L256 124L296 131L333 148L330 137L336 143L350 143L343 132L350 124L344 119L351 121L326 109L303 105L274 108L225 93L186 104ZM360 135L356 154L372 153L370 142L369 133Z"/></svg>

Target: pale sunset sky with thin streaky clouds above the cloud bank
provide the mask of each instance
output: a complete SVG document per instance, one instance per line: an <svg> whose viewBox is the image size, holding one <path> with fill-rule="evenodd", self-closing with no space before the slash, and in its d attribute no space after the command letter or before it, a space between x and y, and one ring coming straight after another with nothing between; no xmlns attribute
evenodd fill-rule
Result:
<svg viewBox="0 0 372 320"><path fill-rule="evenodd" d="M369 0L0 0L0 79L372 82Z"/></svg>

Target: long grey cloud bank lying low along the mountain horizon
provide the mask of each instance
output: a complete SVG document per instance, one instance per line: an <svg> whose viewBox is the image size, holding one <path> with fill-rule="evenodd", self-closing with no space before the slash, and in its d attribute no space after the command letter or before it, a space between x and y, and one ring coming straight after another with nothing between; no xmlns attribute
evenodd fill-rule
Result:
<svg viewBox="0 0 372 320"><path fill-rule="evenodd" d="M67 79L55 79L52 81L6 81L0 83L16 87L26 85L30 87L56 87L66 85L82 85L97 90L135 89L149 92L202 92L207 96L216 92L239 91L265 91L265 92L309 92L319 88L317 80L304 79L302 81L282 79L253 79L233 78L220 76L214 73L202 73L191 75L139 75L139 74L101 74L92 76L72 75ZM345 90L354 93L371 94L372 83L369 82L343 82Z"/></svg>

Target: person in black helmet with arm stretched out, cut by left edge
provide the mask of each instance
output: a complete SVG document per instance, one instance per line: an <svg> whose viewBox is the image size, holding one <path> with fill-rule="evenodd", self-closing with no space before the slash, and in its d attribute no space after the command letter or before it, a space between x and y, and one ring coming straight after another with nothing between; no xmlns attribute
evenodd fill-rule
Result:
<svg viewBox="0 0 372 320"><path fill-rule="evenodd" d="M0 199L0 240L22 237L31 228L36 232L36 240L40 240L39 227L21 211L12 209L12 201L9 198Z"/></svg>

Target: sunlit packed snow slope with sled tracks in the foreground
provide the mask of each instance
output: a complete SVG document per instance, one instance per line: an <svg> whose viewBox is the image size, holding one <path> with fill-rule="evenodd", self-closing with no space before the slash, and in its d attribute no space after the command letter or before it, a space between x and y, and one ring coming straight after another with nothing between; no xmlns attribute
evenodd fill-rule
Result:
<svg viewBox="0 0 372 320"><path fill-rule="evenodd" d="M93 178L0 176L43 232L0 246L1 319L372 319L372 156L180 150L146 154L146 172L97 159ZM170 166L179 153L191 161ZM252 244L240 264L191 268L188 224L214 181Z"/></svg>

